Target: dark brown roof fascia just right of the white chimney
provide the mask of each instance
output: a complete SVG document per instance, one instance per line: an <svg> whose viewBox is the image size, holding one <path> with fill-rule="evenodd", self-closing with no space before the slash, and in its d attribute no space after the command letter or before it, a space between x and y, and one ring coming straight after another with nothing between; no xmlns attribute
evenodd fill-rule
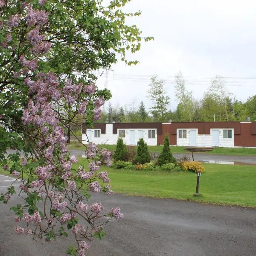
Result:
<svg viewBox="0 0 256 256"><path fill-rule="evenodd" d="M162 134L162 123L113 123L113 134L117 129L157 129L157 134Z"/></svg>

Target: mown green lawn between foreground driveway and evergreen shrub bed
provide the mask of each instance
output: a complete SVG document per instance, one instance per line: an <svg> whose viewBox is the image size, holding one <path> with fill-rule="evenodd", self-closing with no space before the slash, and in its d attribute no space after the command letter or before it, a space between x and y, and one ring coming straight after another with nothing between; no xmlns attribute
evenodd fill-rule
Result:
<svg viewBox="0 0 256 256"><path fill-rule="evenodd" d="M86 167L88 162L80 158ZM202 203L230 204L256 207L256 166L204 164L200 196L195 198L197 175L191 172L108 170L115 193L154 198L176 198ZM0 171L9 175L9 172Z"/></svg>

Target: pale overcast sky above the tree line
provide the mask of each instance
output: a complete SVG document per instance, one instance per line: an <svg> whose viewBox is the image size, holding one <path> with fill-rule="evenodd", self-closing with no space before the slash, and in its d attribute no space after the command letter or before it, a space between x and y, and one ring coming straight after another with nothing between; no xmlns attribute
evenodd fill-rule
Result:
<svg viewBox="0 0 256 256"><path fill-rule="evenodd" d="M128 55L140 64L125 66L119 61L109 71L107 88L111 103L139 104L147 109L148 84L152 75L166 81L175 110L174 76L180 70L186 88L201 99L215 75L225 77L233 98L245 101L256 94L256 1L255 0L131 0L127 11L142 11L128 20L154 41L144 43L140 52ZM254 78L254 79L253 79ZM105 73L99 88L105 86Z"/></svg>

